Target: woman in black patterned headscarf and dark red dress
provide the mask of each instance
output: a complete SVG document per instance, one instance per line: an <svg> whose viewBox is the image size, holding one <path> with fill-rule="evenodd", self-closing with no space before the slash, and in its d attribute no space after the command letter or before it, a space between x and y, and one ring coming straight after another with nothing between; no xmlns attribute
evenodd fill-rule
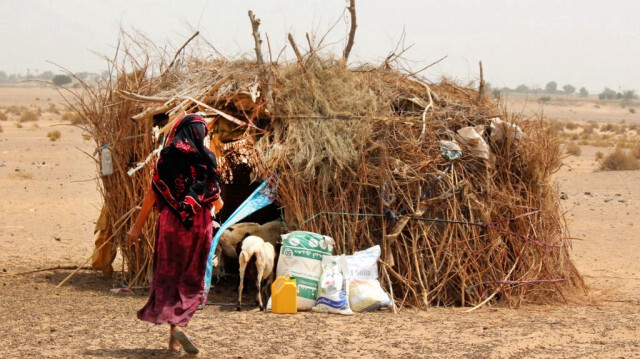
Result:
<svg viewBox="0 0 640 359"><path fill-rule="evenodd" d="M204 146L207 125L187 115L169 132L151 188L127 242L139 241L155 203L158 210L151 293L138 319L171 326L169 349L199 352L184 327L205 300L204 273L212 238L211 209L222 208L216 157Z"/></svg>

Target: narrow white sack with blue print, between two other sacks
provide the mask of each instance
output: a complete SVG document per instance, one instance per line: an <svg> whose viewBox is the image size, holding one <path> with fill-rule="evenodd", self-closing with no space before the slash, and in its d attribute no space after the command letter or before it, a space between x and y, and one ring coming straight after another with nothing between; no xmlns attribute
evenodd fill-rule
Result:
<svg viewBox="0 0 640 359"><path fill-rule="evenodd" d="M314 312L353 314L349 308L349 268L345 256L322 258L322 276Z"/></svg>

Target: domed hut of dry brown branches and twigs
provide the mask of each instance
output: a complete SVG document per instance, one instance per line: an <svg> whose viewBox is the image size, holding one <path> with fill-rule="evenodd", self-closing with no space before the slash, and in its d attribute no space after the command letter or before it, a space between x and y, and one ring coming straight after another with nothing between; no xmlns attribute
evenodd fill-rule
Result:
<svg viewBox="0 0 640 359"><path fill-rule="evenodd" d="M153 221L142 245L124 239L152 152L174 121L200 112L223 182L271 178L287 228L333 237L336 253L380 245L380 279L399 306L517 306L584 288L551 181L561 150L544 120L389 62L351 67L313 49L280 64L125 50L112 79L73 106L112 151L115 172L99 184L130 285L151 276ZM522 135L496 140L496 119ZM467 127L488 158L458 132ZM442 141L462 155L448 156Z"/></svg>

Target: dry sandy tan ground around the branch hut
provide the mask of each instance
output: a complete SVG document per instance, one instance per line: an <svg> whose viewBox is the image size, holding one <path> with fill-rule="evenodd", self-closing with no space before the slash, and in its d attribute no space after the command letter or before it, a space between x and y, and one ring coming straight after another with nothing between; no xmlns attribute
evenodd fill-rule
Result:
<svg viewBox="0 0 640 359"><path fill-rule="evenodd" d="M0 106L44 109L54 96L51 90L0 89ZM557 118L562 113L551 111ZM614 117L607 113L601 120ZM82 264L93 249L101 202L94 160L83 152L93 153L95 144L83 140L80 129L59 124L47 114L38 127L17 128L13 117L0 122L0 357L180 357L165 349L166 327L135 318L146 301L143 290L111 294L118 282L90 271L61 289L55 286L68 270L14 275ZM59 141L46 137L52 130L62 133ZM595 152L611 150L583 147L557 174L568 194L562 203L576 238L573 258L591 287L575 303L350 317L279 316L251 307L235 312L215 304L190 325L201 357L640 357L640 171L597 172ZM229 301L225 294L213 302Z"/></svg>

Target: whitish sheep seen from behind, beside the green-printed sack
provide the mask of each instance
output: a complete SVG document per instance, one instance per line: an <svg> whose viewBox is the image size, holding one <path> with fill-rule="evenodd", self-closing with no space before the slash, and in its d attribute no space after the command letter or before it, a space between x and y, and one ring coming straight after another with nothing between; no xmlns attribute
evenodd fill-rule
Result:
<svg viewBox="0 0 640 359"><path fill-rule="evenodd" d="M279 245L277 245L279 247ZM275 278L275 264L278 261L278 252L269 242L265 242L258 236L248 235L237 244L238 262L240 264L240 284L238 286L238 307L242 306L242 290L244 289L245 274L250 280L255 280L258 289L257 301L260 310L264 310L262 304L262 281L266 281L265 289L268 289Z"/></svg>

